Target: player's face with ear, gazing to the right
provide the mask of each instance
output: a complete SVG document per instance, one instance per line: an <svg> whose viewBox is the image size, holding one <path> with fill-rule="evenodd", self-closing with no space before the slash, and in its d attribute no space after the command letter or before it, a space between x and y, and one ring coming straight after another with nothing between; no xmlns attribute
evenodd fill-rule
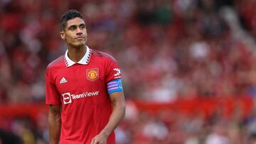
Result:
<svg viewBox="0 0 256 144"><path fill-rule="evenodd" d="M82 18L69 20L65 26L65 30L60 32L60 37L65 40L68 45L73 47L85 45L87 40L85 21L83 21Z"/></svg>

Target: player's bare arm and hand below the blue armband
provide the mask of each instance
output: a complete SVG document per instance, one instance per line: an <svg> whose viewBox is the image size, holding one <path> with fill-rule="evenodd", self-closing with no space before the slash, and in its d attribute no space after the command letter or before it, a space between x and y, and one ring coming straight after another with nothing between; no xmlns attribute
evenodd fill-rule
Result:
<svg viewBox="0 0 256 144"><path fill-rule="evenodd" d="M103 130L92 138L91 144L105 144L107 143L107 137L117 128L122 118L125 115L125 100L124 92L114 92L110 94L110 99L112 101L113 111L110 116L110 120Z"/></svg>

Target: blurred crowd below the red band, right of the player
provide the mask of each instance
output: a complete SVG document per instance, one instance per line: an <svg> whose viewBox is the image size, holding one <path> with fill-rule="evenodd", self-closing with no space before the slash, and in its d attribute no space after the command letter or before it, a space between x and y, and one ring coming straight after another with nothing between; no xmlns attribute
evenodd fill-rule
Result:
<svg viewBox="0 0 256 144"><path fill-rule="evenodd" d="M131 104L132 105L132 104ZM132 106L129 105L131 110ZM210 116L178 111L136 112L128 115L117 128L120 144L255 144L256 115L242 117L236 108L230 116L221 109ZM135 117L134 117L135 116Z"/></svg>

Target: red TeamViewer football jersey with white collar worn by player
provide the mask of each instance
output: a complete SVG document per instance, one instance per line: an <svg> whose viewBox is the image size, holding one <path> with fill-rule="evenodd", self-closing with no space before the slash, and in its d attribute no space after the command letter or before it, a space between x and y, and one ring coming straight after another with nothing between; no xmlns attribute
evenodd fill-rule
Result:
<svg viewBox="0 0 256 144"><path fill-rule="evenodd" d="M60 144L90 144L112 113L107 83L121 78L119 66L110 55L86 48L80 62L70 60L67 50L46 69L46 104L62 107ZM115 143L114 132L107 143Z"/></svg>

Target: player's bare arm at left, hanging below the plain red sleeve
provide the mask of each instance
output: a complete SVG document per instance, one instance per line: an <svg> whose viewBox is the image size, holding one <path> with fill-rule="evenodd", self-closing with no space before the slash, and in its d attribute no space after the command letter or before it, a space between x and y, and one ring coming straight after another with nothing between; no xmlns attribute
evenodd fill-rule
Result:
<svg viewBox="0 0 256 144"><path fill-rule="evenodd" d="M60 140L61 116L60 105L50 105L48 115L50 144L58 144Z"/></svg>

